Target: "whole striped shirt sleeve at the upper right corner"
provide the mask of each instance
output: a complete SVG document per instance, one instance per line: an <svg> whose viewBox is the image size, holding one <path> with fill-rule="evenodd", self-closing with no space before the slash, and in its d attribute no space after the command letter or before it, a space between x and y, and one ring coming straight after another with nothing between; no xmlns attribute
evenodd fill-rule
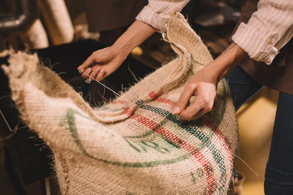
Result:
<svg viewBox="0 0 293 195"><path fill-rule="evenodd" d="M293 0L260 0L247 24L232 36L251 59L271 64L293 36Z"/></svg>

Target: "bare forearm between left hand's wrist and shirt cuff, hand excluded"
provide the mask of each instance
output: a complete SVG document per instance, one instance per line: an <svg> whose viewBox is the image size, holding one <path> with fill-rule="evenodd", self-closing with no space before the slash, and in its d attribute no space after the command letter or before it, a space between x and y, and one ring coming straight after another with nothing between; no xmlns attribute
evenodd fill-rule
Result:
<svg viewBox="0 0 293 195"><path fill-rule="evenodd" d="M150 37L156 29L152 26L136 20L126 30L126 32L113 44L113 47L117 49L119 55L126 57L132 49L144 42Z"/></svg>

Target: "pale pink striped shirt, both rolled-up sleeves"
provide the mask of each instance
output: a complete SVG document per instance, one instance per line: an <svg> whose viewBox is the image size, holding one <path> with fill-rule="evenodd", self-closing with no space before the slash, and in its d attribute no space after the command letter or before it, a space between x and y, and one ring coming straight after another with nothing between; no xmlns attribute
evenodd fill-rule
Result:
<svg viewBox="0 0 293 195"><path fill-rule="evenodd" d="M166 31L172 11L181 11L189 0L148 0L137 16L159 32ZM251 59L271 64L293 36L293 0L260 0L247 24L241 23L232 36Z"/></svg>

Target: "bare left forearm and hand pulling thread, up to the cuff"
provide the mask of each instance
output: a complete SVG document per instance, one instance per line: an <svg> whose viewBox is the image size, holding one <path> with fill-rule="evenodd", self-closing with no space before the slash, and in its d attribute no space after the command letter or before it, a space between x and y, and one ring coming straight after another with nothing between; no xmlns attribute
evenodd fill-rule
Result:
<svg viewBox="0 0 293 195"><path fill-rule="evenodd" d="M136 46L151 36L156 29L136 20L116 42L105 49L94 52L77 69L82 77L102 80L113 73ZM84 74L85 72L86 74ZM90 78L92 80L92 78Z"/></svg>

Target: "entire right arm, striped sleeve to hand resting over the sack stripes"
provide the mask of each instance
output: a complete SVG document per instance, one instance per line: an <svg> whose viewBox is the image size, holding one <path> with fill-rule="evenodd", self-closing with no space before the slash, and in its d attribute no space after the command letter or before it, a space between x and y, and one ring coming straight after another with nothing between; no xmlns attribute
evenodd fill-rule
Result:
<svg viewBox="0 0 293 195"><path fill-rule="evenodd" d="M191 120L209 112L216 86L247 55L267 64L293 36L293 1L260 0L247 24L241 23L232 36L234 43L221 56L196 73L186 85L173 113ZM191 96L196 96L190 106Z"/></svg>

